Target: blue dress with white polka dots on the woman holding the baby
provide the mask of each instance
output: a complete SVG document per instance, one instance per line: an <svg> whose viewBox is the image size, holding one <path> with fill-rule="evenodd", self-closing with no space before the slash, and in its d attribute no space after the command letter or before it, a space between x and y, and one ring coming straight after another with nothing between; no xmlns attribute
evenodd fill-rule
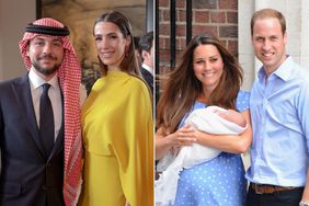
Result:
<svg viewBox="0 0 309 206"><path fill-rule="evenodd" d="M196 102L193 110L205 107ZM237 108L249 108L249 93L240 91ZM221 152L205 163L180 173L173 206L243 206L247 181L239 154Z"/></svg>

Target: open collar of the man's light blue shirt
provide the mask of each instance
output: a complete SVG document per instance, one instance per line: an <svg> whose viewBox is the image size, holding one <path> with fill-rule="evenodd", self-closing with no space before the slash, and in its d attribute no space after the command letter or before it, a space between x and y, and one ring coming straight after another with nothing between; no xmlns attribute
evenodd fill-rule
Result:
<svg viewBox="0 0 309 206"><path fill-rule="evenodd" d="M291 79L294 69L295 69L295 62L291 56L287 56L284 62L273 73L270 75L268 79L272 79L274 76L276 76L282 80L287 81ZM266 78L264 67L261 67L261 69L258 72L258 77L260 81Z"/></svg>

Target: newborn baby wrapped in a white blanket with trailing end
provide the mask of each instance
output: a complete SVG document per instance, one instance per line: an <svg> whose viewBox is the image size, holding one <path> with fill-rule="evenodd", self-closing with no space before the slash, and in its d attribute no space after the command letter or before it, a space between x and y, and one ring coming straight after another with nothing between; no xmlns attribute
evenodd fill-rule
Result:
<svg viewBox="0 0 309 206"><path fill-rule="evenodd" d="M194 128L214 135L239 135L247 129L242 114L219 106L208 106L193 111L185 121ZM219 137L218 137L219 138ZM221 151L198 144L183 147L176 157L171 153L162 158L157 170L162 171L154 182L156 206L172 204L175 198L180 171L209 161Z"/></svg>

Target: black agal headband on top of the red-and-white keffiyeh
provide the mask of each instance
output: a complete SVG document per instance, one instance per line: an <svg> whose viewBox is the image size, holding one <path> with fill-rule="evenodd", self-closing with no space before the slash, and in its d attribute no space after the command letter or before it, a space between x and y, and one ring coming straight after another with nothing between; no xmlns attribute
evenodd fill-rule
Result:
<svg viewBox="0 0 309 206"><path fill-rule="evenodd" d="M31 33L48 34L55 36L67 36L70 34L70 31L67 26L54 27L54 26L35 25L32 23L26 26L25 31Z"/></svg>

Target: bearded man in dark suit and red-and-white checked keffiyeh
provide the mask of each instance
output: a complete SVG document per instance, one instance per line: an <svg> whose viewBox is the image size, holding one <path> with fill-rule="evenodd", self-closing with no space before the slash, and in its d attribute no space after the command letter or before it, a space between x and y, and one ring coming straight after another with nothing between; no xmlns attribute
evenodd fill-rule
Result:
<svg viewBox="0 0 309 206"><path fill-rule="evenodd" d="M20 42L28 72L0 83L0 205L77 205L81 69L68 35L69 30L54 19L28 24ZM50 153L39 131L39 96L46 83L55 125Z"/></svg>

